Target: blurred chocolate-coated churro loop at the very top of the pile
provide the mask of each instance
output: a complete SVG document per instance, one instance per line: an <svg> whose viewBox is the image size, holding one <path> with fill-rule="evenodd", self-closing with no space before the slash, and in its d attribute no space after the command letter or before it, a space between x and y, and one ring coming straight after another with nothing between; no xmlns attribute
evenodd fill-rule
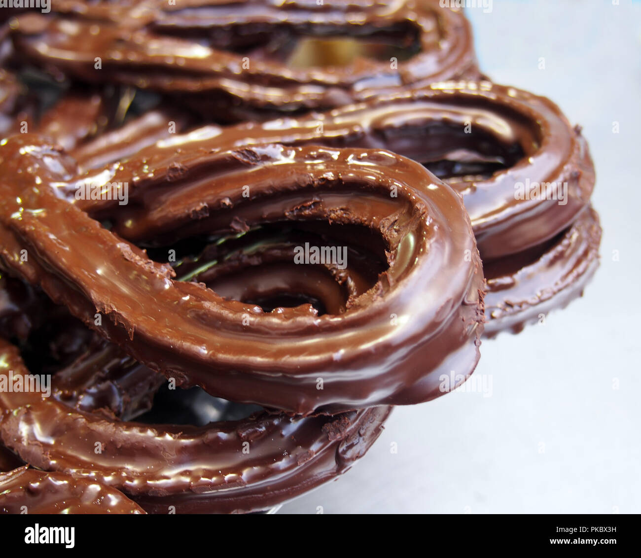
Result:
<svg viewBox="0 0 641 558"><path fill-rule="evenodd" d="M19 16L12 29L26 60L94 83L191 95L207 113L228 119L331 108L401 86L479 77L469 22L437 0L59 1L48 15ZM385 39L401 51L415 42L417 52L408 60L292 67L290 45L310 36Z"/></svg>

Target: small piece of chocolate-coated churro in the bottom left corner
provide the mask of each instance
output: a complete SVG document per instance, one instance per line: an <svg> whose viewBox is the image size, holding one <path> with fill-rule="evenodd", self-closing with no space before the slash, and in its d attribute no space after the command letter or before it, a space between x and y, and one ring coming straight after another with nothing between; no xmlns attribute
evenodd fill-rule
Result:
<svg viewBox="0 0 641 558"><path fill-rule="evenodd" d="M46 473L27 466L0 473L0 514L141 514L117 489L92 479Z"/></svg>

